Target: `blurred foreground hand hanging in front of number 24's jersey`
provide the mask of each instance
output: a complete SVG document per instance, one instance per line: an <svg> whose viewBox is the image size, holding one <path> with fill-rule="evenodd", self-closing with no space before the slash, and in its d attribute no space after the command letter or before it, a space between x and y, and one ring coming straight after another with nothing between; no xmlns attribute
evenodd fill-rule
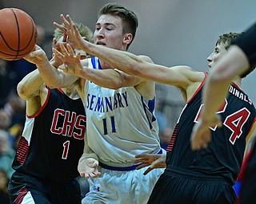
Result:
<svg viewBox="0 0 256 204"><path fill-rule="evenodd" d="M199 120L197 124L194 124L190 138L192 150L198 151L202 148L208 147L211 140L210 127L214 127L216 125L218 125L218 127L222 127L221 119L216 114L214 115L214 118L208 120L207 122Z"/></svg>

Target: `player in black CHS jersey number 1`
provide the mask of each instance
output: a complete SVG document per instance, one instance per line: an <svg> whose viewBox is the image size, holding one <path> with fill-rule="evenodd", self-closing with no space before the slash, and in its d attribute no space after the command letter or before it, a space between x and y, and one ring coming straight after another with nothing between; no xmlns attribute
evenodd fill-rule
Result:
<svg viewBox="0 0 256 204"><path fill-rule="evenodd" d="M90 40L90 29L77 26ZM63 33L55 29L54 37L62 41ZM37 55L26 60L34 63ZM56 68L62 65L58 57L52 63ZM17 89L26 100L26 124L12 165L11 203L80 204L82 194L75 178L84 147L86 114L76 88L50 89L36 69L19 82Z"/></svg>

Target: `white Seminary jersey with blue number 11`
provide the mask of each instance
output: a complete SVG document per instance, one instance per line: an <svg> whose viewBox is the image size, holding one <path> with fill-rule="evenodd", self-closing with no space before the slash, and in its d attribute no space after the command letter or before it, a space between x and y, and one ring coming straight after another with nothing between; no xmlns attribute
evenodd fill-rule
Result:
<svg viewBox="0 0 256 204"><path fill-rule="evenodd" d="M97 57L89 68L101 69ZM108 165L130 163L134 155L161 150L154 100L134 87L102 88L86 81L86 131L88 145L99 161Z"/></svg>

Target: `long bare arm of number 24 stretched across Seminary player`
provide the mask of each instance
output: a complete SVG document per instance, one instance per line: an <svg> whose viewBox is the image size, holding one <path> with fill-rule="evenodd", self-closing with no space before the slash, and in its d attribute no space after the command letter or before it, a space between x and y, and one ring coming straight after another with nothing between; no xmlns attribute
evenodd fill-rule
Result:
<svg viewBox="0 0 256 204"><path fill-rule="evenodd" d="M82 38L69 15L66 18L61 15L61 19L65 28L56 22L54 25L68 34L69 41L76 48L83 49L86 53L99 57L102 61L125 73L162 84L171 84L182 89L186 89L191 83L201 81L203 78L203 74L198 74L187 66L167 68L166 66L155 65L146 61L145 56L138 57L125 51L94 45Z"/></svg>

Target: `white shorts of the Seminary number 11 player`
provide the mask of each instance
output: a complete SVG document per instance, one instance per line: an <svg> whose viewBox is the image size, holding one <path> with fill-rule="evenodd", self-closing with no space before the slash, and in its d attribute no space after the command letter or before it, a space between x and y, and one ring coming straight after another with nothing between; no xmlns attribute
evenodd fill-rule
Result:
<svg viewBox="0 0 256 204"><path fill-rule="evenodd" d="M133 171L112 171L99 167L102 176L88 179L90 192L82 199L86 203L143 204L150 198L154 184L164 169L154 169L143 175L148 167Z"/></svg>

